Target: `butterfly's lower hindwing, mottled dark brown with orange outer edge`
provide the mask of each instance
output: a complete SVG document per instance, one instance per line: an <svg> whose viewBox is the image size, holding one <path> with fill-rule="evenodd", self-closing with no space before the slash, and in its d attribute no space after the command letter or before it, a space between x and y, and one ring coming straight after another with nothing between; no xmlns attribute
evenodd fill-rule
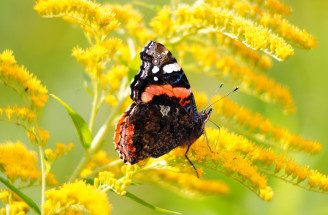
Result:
<svg viewBox="0 0 328 215"><path fill-rule="evenodd" d="M194 121L182 107L133 103L116 125L114 143L120 158L134 164L189 145L193 128Z"/></svg>

